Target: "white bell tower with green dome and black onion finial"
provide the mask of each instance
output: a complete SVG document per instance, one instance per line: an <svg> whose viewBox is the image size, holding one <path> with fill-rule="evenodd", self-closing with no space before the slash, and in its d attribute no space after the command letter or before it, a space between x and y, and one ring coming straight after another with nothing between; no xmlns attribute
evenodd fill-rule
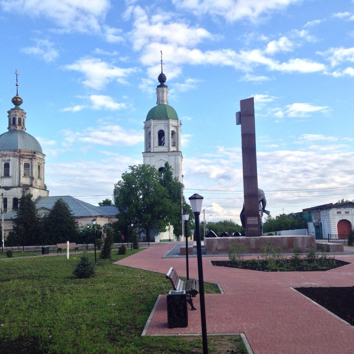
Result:
<svg viewBox="0 0 354 354"><path fill-rule="evenodd" d="M169 105L169 88L165 85L166 75L158 77L156 106L149 110L144 122L145 145L143 163L160 170L168 162L173 169L173 177L182 182L181 121Z"/></svg>

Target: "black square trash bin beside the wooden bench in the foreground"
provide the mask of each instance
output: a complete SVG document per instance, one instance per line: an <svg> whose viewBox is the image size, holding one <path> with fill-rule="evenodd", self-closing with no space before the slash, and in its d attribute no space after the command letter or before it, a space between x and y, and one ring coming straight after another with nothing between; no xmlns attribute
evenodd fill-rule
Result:
<svg viewBox="0 0 354 354"><path fill-rule="evenodd" d="M188 326L187 294L184 290L167 293L167 325L169 328Z"/></svg>

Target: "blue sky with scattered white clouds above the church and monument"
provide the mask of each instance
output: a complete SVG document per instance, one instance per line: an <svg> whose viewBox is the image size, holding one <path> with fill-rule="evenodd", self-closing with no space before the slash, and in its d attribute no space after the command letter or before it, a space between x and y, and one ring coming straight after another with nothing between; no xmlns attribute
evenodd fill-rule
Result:
<svg viewBox="0 0 354 354"><path fill-rule="evenodd" d="M273 216L354 199L351 0L2 0L0 132L16 93L50 195L96 204L142 163L160 50L182 121L184 195L239 222L239 101L255 97Z"/></svg>

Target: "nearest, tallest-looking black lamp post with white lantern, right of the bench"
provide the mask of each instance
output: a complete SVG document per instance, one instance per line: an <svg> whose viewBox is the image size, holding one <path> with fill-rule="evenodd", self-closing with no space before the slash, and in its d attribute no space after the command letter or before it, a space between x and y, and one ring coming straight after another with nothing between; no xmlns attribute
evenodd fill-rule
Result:
<svg viewBox="0 0 354 354"><path fill-rule="evenodd" d="M199 194L193 194L188 198L190 206L195 217L195 235L197 244L197 261L198 261L198 278L199 278L199 298L200 298L200 319L201 319L201 335L203 342L203 354L208 354L208 338L206 336L206 319L205 319L205 300L204 300L204 279L203 264L201 257L201 241L199 229L199 215L203 203L203 197Z"/></svg>

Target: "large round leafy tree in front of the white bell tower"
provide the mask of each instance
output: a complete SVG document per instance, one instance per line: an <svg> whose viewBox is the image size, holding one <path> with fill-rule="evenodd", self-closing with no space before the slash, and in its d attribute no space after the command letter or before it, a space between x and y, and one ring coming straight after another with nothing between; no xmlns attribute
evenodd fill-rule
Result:
<svg viewBox="0 0 354 354"><path fill-rule="evenodd" d="M130 172L114 185L114 203L122 231L129 233L130 223L150 237L152 225L160 232L170 224L171 200L166 188L159 182L159 173L150 165L129 166Z"/></svg>

